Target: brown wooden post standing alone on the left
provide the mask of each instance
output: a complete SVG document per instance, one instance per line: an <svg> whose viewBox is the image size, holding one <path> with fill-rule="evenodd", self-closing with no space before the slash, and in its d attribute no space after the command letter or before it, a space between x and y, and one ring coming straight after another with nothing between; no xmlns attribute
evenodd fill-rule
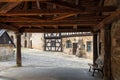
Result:
<svg viewBox="0 0 120 80"><path fill-rule="evenodd" d="M16 38L17 38L17 54L16 54L16 64L18 67L22 66L22 61L21 61L21 33L16 33Z"/></svg>

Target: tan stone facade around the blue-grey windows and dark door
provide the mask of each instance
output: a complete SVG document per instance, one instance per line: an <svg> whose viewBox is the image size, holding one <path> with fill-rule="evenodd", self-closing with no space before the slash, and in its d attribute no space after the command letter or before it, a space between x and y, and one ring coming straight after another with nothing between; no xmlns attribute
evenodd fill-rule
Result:
<svg viewBox="0 0 120 80"><path fill-rule="evenodd" d="M71 48L66 48L67 40L71 41L71 43L72 43ZM66 54L72 55L73 54L73 43L78 43L78 46L79 46L79 40L83 40L83 43L85 45L85 57L92 59L93 58L93 37L92 36L62 38L63 52L65 52ZM91 44L92 51L90 51L90 52L87 52L87 44L86 44L87 41L92 42L92 44Z"/></svg>

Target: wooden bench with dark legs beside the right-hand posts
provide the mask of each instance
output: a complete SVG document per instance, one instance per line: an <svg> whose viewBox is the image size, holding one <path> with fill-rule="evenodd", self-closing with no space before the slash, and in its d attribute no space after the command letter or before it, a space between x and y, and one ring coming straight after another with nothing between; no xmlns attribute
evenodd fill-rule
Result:
<svg viewBox="0 0 120 80"><path fill-rule="evenodd" d="M104 68L104 66L103 66L103 60L97 59L97 60L95 61L95 64L90 64L90 63L88 63L88 65L90 66L89 72L90 72L91 70L93 70L92 76L94 76L95 71L101 72L101 73L103 74L103 68ZM103 74L103 75L104 75L104 74Z"/></svg>

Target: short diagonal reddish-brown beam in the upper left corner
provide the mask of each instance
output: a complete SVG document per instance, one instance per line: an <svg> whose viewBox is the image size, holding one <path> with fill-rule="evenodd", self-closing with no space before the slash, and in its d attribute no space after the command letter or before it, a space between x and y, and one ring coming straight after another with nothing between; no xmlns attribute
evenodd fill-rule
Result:
<svg viewBox="0 0 120 80"><path fill-rule="evenodd" d="M14 7L16 7L21 2L10 2L5 4L2 8L0 8L0 13L7 13L8 11L12 10Z"/></svg>

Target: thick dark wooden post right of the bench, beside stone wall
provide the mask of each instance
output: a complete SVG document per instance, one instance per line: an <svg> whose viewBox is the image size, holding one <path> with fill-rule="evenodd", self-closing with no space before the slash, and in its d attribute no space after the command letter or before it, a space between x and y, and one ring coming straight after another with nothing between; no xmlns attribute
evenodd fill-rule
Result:
<svg viewBox="0 0 120 80"><path fill-rule="evenodd" d="M113 80L111 72L111 25L105 25L104 45L104 80Z"/></svg>

